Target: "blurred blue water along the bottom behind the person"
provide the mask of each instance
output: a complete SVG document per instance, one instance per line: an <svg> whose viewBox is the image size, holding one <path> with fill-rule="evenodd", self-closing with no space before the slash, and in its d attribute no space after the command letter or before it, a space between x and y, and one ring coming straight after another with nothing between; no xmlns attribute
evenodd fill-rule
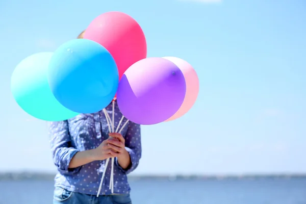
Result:
<svg viewBox="0 0 306 204"><path fill-rule="evenodd" d="M306 204L306 178L130 181L133 204ZM52 203L53 181L0 181L0 204Z"/></svg>

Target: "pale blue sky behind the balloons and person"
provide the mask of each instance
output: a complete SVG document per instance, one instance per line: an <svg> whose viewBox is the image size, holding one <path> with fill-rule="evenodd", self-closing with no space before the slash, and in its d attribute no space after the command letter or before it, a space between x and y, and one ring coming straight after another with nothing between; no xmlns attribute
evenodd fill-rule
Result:
<svg viewBox="0 0 306 204"><path fill-rule="evenodd" d="M56 2L0 2L0 171L55 171L46 122L11 95L14 67L121 11L143 28L148 57L185 59L200 80L189 113L142 127L135 174L306 172L303 0Z"/></svg>

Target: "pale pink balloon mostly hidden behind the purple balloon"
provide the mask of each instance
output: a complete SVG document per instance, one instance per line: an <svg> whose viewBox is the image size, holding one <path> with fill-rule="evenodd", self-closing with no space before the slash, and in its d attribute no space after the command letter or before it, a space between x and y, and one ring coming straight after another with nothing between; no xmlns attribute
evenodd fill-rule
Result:
<svg viewBox="0 0 306 204"><path fill-rule="evenodd" d="M199 79L197 77L195 70L185 60L176 57L163 57L163 58L171 61L177 67L179 67L183 72L186 81L186 95L182 106L178 111L176 111L174 115L172 115L169 119L165 120L165 121L171 121L179 117L182 117L192 108L199 93Z"/></svg>

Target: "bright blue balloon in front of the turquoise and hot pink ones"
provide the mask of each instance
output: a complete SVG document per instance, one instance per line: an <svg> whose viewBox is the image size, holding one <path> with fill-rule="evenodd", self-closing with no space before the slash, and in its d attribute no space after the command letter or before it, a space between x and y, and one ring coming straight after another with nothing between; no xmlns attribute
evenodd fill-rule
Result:
<svg viewBox="0 0 306 204"><path fill-rule="evenodd" d="M66 108L95 113L114 98L119 76L114 58L102 45L74 39L61 45L50 60L49 86Z"/></svg>

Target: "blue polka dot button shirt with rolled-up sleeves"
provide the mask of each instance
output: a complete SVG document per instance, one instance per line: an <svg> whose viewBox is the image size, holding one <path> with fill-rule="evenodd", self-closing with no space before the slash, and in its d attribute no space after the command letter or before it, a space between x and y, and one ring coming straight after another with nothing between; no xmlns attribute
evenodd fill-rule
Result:
<svg viewBox="0 0 306 204"><path fill-rule="evenodd" d="M106 108L112 117L112 104ZM115 103L115 130L122 117L117 103ZM123 119L121 126L126 121ZM69 169L72 157L78 151L98 147L101 142L108 139L109 129L103 111L94 114L80 114L74 118L48 122L50 145L53 161L58 169L55 177L55 186L62 187L72 192L96 195L103 171L106 171L100 195L109 195L111 163L105 169L106 160L94 161L78 168ZM126 175L136 169L141 158L140 125L129 122L121 134L125 139L125 149L130 153L132 165L123 169L115 158L114 165L114 193L130 193Z"/></svg>

